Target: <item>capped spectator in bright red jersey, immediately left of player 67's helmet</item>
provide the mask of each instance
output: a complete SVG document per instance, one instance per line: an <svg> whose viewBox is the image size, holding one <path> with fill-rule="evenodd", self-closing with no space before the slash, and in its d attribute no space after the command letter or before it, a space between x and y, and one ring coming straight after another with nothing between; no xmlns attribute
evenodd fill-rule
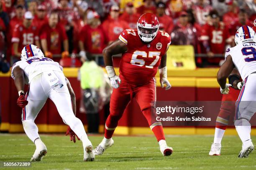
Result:
<svg viewBox="0 0 256 170"><path fill-rule="evenodd" d="M111 7L110 16L103 22L102 27L109 43L117 40L120 33L129 28L128 23L119 20L119 7L115 5Z"/></svg>

